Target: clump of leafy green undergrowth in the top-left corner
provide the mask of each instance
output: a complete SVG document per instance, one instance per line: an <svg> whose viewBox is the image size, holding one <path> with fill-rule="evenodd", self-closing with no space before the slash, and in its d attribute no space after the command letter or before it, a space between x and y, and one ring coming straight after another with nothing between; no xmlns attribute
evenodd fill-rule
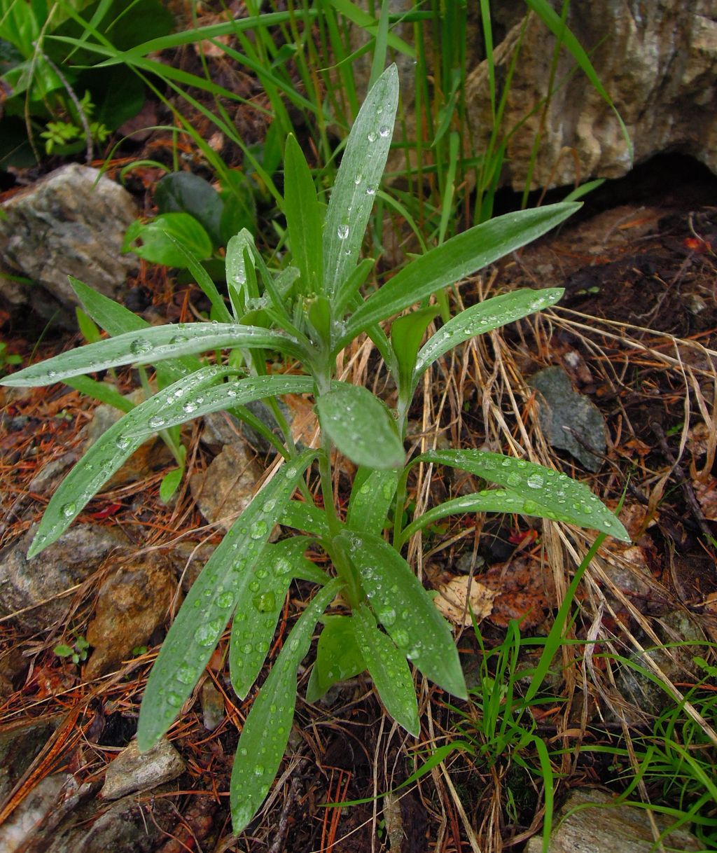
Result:
<svg viewBox="0 0 717 853"><path fill-rule="evenodd" d="M142 107L139 78L93 67L80 11L118 49L165 35L174 23L159 0L0 0L0 167L38 159L38 138L46 154L90 155Z"/></svg>

